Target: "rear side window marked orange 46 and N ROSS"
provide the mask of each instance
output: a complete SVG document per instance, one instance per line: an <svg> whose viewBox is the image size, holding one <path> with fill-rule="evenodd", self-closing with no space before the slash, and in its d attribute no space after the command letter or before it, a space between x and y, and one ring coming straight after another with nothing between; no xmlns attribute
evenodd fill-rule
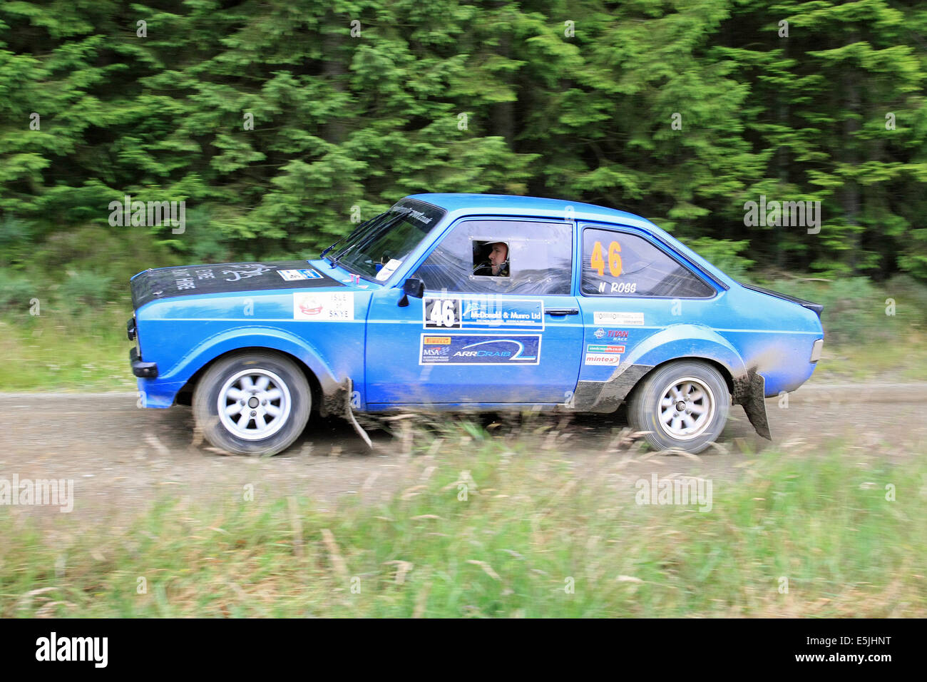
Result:
<svg viewBox="0 0 927 682"><path fill-rule="evenodd" d="M584 296L709 298L715 290L646 239L587 227L582 233Z"/></svg>

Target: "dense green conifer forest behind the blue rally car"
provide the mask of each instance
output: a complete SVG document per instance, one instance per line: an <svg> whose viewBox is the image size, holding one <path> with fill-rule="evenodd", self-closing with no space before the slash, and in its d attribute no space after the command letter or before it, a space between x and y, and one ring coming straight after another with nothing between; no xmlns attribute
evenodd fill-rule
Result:
<svg viewBox="0 0 927 682"><path fill-rule="evenodd" d="M925 79L914 0L4 2L0 308L317 257L414 192L623 208L734 277L927 307ZM184 234L109 225L125 195ZM819 233L745 226L761 195Z"/></svg>

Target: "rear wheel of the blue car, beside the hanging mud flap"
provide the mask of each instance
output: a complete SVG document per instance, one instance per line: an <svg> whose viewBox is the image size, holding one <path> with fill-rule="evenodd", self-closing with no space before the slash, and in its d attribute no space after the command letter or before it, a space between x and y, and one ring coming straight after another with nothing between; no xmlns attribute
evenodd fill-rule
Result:
<svg viewBox="0 0 927 682"><path fill-rule="evenodd" d="M635 387L628 421L635 431L647 431L644 438L656 449L678 448L694 455L715 442L729 410L728 384L720 372L700 360L679 360L656 369Z"/></svg>

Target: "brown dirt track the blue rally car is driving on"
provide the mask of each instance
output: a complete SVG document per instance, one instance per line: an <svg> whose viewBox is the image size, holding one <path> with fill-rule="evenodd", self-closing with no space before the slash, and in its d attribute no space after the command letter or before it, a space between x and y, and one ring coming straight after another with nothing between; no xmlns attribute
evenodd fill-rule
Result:
<svg viewBox="0 0 927 682"><path fill-rule="evenodd" d="M787 408L777 399L767 401L771 445L814 453L843 438L848 452L858 449L860 457L904 457L920 452L915 444L927 443L924 399L927 384L806 386L789 396ZM255 458L222 456L193 444L189 408L138 409L131 393L6 393L0 394L0 410L6 416L0 478L73 479L71 516L88 521L128 521L161 495L241 499L249 483L255 496L307 495L322 508L334 508L346 495L387 499L400 486L413 484L402 439L373 431L371 452L340 420L313 418L285 453ZM580 417L564 430L560 419L546 422L558 436L524 436L537 440L538 457L568 459L590 476L611 475L614 462L626 457L610 450L622 426L614 419ZM661 477L679 472L730 478L754 453L770 447L739 406L731 409L719 444L698 458L638 457L624 463L621 475L655 471ZM52 525L61 518L57 508L11 509Z"/></svg>

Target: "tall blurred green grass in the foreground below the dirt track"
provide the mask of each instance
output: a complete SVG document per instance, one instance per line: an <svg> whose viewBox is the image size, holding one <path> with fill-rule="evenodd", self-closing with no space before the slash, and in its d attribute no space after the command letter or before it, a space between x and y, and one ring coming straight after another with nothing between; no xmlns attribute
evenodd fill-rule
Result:
<svg viewBox="0 0 927 682"><path fill-rule="evenodd" d="M55 542L2 520L0 616L927 615L922 459L769 452L700 512L636 504L627 452L590 474L475 427L407 443L381 506L163 498Z"/></svg>

